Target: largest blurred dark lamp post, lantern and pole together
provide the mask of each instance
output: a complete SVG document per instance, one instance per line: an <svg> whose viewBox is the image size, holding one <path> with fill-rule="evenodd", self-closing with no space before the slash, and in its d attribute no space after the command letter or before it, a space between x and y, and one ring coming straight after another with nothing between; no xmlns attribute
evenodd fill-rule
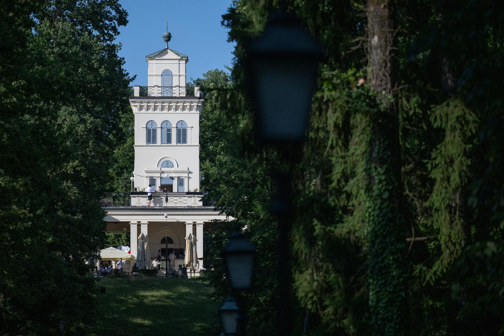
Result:
<svg viewBox="0 0 504 336"><path fill-rule="evenodd" d="M284 160L292 161L292 149L304 141L313 90L322 60L322 47L301 22L284 11L271 13L264 33L247 47L245 71L256 112L256 137L260 143L274 144ZM274 125L272 127L271 125ZM289 151L290 150L290 151ZM289 153L290 152L290 153ZM292 219L291 177L275 174L277 185L285 185L284 197L272 207L278 221L278 330L290 335L290 253Z"/></svg>

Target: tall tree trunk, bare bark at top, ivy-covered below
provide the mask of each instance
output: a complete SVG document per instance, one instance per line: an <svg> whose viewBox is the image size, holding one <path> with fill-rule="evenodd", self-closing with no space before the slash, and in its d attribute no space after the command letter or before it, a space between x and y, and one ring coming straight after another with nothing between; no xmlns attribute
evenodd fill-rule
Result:
<svg viewBox="0 0 504 336"><path fill-rule="evenodd" d="M399 118L395 87L392 9L387 0L366 6L368 85L377 108L370 118L365 215L368 225L369 307L373 335L406 333L404 288L407 246L403 225Z"/></svg>

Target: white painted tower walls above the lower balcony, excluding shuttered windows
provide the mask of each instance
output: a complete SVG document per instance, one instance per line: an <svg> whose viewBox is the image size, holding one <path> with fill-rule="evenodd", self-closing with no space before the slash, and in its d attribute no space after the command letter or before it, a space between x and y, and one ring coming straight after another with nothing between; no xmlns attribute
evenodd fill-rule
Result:
<svg viewBox="0 0 504 336"><path fill-rule="evenodd" d="M170 69L173 74L173 86L185 86L185 63L187 57L180 57L165 49L154 57L146 57L149 63L148 86L161 85L161 73ZM184 191L200 190L200 114L204 100L189 97L140 97L130 99L135 114L135 180L138 190L149 185L149 177L156 177L156 185L164 173L176 179L184 178ZM147 122L154 120L157 125L157 143L147 145ZM161 123L171 122L171 144L161 144ZM176 144L176 125L183 120L187 123L187 144ZM159 168L161 162L168 159L174 168Z"/></svg>

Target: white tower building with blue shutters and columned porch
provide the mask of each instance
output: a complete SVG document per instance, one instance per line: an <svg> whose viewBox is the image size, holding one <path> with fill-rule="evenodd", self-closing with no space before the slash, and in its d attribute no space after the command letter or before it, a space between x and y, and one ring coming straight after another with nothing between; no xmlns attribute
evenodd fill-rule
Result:
<svg viewBox="0 0 504 336"><path fill-rule="evenodd" d="M168 32L163 34L165 41ZM137 238L148 237L151 260L174 251L184 254L185 237L197 238L201 266L203 232L218 227L214 220L226 215L203 204L200 190L200 114L204 99L199 87L186 87L188 57L166 47L147 55L148 85L135 86L130 105L135 115L135 167L131 193L109 193L102 200L108 231L130 231L131 254L137 255ZM147 186L153 192L149 202ZM150 205L149 205L150 203ZM166 216L165 216L166 214ZM167 237L167 238L166 238ZM175 260L175 264L183 259Z"/></svg>

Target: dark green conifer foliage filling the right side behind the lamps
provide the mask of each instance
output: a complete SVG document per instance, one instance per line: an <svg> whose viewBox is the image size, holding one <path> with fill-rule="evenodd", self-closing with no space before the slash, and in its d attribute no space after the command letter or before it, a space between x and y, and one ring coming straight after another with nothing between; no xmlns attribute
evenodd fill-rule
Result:
<svg viewBox="0 0 504 336"><path fill-rule="evenodd" d="M242 67L246 44L279 2L233 2L223 23L236 43L234 92L209 97L218 101L213 121L223 131L209 175L212 197L218 209L246 225L251 241L271 239L259 248L262 257L276 251L275 219L268 211L277 192L271 172L278 167L295 177L292 186L282 187L296 194L293 309L295 320L308 321L308 333L478 333L480 321L501 321L500 292L494 289L502 278L485 271L498 266L489 266L481 246L492 241L500 251L503 242L504 17L490 1L391 6L397 29L392 65L377 71L387 73L393 87L383 97L367 80L366 15L373 13L362 14L365 4L282 3L320 40L327 56L303 159L291 165L251 137L254 116ZM202 132L206 127L212 128L205 125ZM467 263L474 272L461 271ZM223 271L216 270L211 284L223 299ZM460 273L467 276L457 278ZM261 279L255 295L242 298L254 323L249 334L275 325L274 308L271 314L257 309L260 302L275 304L275 279L271 274ZM408 320L415 321L412 330ZM469 326L473 322L477 327ZM301 328L296 324L295 333ZM502 323L492 332L502 332Z"/></svg>

